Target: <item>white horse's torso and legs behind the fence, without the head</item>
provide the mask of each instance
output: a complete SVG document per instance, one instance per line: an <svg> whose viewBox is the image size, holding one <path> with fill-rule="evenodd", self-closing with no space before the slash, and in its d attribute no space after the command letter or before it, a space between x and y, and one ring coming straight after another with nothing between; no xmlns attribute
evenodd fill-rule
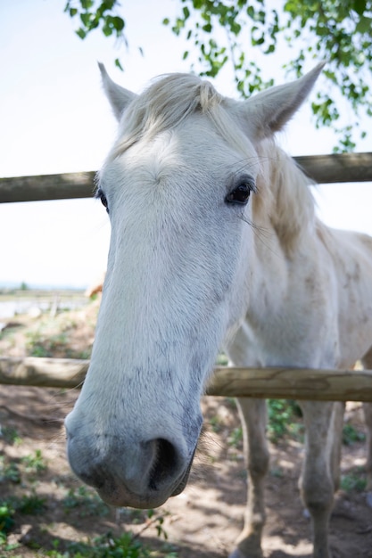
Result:
<svg viewBox="0 0 372 558"><path fill-rule="evenodd" d="M361 358L372 365L372 241L363 234L328 229L316 221L301 245L279 269L265 242L260 244L262 282L244 324L227 347L234 365L350 368ZM263 252L266 253L266 257ZM283 262L283 258L280 258ZM275 279L270 274L274 274ZM265 279L266 278L266 279ZM314 556L328 557L327 525L339 486L342 403L302 401L306 442L300 489L313 520ZM260 557L265 523L263 481L269 467L265 402L239 398L248 469L245 525L231 558ZM364 404L369 437L372 405ZM368 489L372 490L371 439ZM317 456L317 458L315 458Z"/></svg>

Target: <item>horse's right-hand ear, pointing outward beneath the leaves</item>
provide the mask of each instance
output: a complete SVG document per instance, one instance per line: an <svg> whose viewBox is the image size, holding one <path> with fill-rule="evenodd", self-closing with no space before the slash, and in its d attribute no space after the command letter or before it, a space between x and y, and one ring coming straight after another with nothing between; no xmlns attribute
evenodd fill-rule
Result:
<svg viewBox="0 0 372 558"><path fill-rule="evenodd" d="M260 140L281 130L310 94L325 63L321 62L296 81L284 86L271 87L244 101L244 120L248 124L249 132Z"/></svg>

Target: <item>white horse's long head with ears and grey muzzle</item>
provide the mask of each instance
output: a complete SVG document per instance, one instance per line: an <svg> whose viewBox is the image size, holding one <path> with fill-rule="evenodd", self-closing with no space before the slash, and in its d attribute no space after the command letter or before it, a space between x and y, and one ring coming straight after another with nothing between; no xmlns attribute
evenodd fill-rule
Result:
<svg viewBox="0 0 372 558"><path fill-rule="evenodd" d="M112 236L91 363L66 419L74 472L108 503L155 507L186 485L200 398L260 264L260 143L323 65L244 102L176 74L140 95L101 67L119 135L98 175Z"/></svg>

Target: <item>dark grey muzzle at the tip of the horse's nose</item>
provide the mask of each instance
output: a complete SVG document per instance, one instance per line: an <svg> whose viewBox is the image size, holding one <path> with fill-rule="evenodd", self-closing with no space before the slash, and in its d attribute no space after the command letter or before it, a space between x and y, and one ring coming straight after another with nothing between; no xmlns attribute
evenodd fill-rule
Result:
<svg viewBox="0 0 372 558"><path fill-rule="evenodd" d="M187 451L182 440L136 442L108 435L86 436L82 431L71 434L69 417L66 431L71 469L106 504L154 508L186 487L195 447Z"/></svg>

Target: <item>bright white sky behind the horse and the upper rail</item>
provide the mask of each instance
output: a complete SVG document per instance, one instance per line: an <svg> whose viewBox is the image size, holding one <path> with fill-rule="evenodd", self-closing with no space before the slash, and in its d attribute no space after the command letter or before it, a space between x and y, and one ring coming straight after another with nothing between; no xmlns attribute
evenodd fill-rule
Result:
<svg viewBox="0 0 372 558"><path fill-rule="evenodd" d="M182 60L185 41L161 24L178 14L178 0L123 0L128 48L101 32L82 41L74 33L78 21L63 12L64 5L65 0L0 2L0 176L100 168L116 122L98 61L136 93L156 75L189 70ZM124 72L114 66L117 57ZM273 64L261 61L271 77ZM220 93L236 96L229 76L215 85ZM316 87L322 85L320 78ZM279 142L292 155L322 154L332 151L335 135L314 128L309 102ZM357 151L372 151L370 135ZM372 234L371 196L370 183L319 186L318 214L330 226ZM93 199L0 204L0 288L22 282L85 288L106 266L109 239L108 217Z"/></svg>

